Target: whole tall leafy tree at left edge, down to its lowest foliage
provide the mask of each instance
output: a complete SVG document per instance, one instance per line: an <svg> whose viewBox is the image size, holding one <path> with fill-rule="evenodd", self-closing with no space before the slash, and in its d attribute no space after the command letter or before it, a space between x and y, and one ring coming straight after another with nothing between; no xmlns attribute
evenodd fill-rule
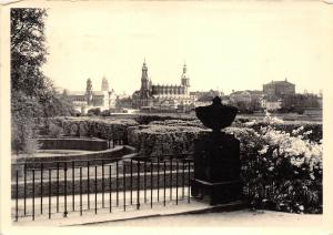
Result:
<svg viewBox="0 0 333 235"><path fill-rule="evenodd" d="M40 117L68 114L70 104L58 99L52 81L42 72L47 61L46 9L11 9L11 120L12 150L33 152Z"/></svg>

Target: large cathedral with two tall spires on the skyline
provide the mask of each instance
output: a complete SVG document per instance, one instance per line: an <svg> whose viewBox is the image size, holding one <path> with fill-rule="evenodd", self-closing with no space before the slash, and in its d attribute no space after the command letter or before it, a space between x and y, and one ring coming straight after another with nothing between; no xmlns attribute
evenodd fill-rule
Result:
<svg viewBox="0 0 333 235"><path fill-rule="evenodd" d="M194 106L195 95L190 95L190 78L186 64L183 65L180 85L153 84L148 75L145 61L142 65L141 89L133 94L134 108L178 109Z"/></svg>

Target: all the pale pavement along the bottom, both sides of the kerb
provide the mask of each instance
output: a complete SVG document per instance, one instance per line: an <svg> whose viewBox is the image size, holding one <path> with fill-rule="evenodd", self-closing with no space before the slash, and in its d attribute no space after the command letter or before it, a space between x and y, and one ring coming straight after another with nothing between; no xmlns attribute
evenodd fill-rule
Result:
<svg viewBox="0 0 333 235"><path fill-rule="evenodd" d="M82 215L80 215L80 197L77 195L75 211L72 212L72 197L68 196L67 217L63 217L64 197L59 197L59 213L56 207L56 197L51 197L51 219L48 217L48 197L43 198L43 214L40 214L40 198L36 200L36 218L32 221L31 216L19 217L19 222L13 222L17 226L322 226L322 215L300 215L291 213L241 210L234 212L220 213L204 213L214 210L221 210L221 206L210 206L206 203L188 201L188 188L185 188L184 197L182 197L182 188L179 188L179 201L176 204L176 190L167 188L165 205L163 191L160 191L158 202L158 191L147 191L147 202L144 203L144 192L140 192L140 210L137 207L137 192L132 194L132 202L130 203L130 192L124 194L119 193L119 206L117 206L117 194L112 196L112 212L109 208L109 194L104 194L104 205L102 208L102 194L97 195L98 213L94 211L94 194L90 194L90 210L88 207L88 195L82 195ZM170 193L172 193L172 201L170 201ZM151 207L152 195L152 207ZM125 212L123 202L127 202ZM12 201L12 214L14 215L14 201ZM19 212L22 214L23 201L19 201ZM32 201L27 201L27 212L31 213ZM200 214L204 213L204 214ZM195 214L195 215L193 215Z"/></svg>

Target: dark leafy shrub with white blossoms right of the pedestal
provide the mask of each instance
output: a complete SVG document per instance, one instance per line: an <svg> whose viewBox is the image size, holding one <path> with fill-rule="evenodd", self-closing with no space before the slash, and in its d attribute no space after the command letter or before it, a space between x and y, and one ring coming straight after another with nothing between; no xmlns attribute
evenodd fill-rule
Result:
<svg viewBox="0 0 333 235"><path fill-rule="evenodd" d="M268 123L236 131L242 180L254 207L322 213L322 143L309 140L304 126L291 133Z"/></svg>

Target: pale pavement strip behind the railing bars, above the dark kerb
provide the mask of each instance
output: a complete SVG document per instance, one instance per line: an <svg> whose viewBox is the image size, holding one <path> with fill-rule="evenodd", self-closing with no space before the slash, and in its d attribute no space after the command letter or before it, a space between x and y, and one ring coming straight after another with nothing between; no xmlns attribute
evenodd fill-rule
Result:
<svg viewBox="0 0 333 235"><path fill-rule="evenodd" d="M157 214L157 212L163 211L163 213L183 213L189 210L202 210L206 205L202 203L194 204L189 207L189 188L165 188L164 190L147 190L139 192L139 210L138 210L138 191L131 192L122 191L118 193L98 193L95 194L83 194L74 195L74 211L73 208L73 197L68 195L59 196L57 206L57 196L43 197L42 206L41 198L28 198L26 201L26 212L24 213L24 201L20 198L18 201L18 222L17 225L74 225L74 224L85 224L90 222L102 222L102 221L118 221L123 218L132 218L140 216L151 216ZM165 193L165 194L164 194ZM178 195L178 200L176 200ZM118 203L117 203L118 197ZM132 197L132 198L131 198ZM103 200L104 198L104 200ZM165 198L165 203L164 203ZM67 201L67 206L65 202ZM49 204L50 202L50 204ZM88 204L89 202L89 204ZM104 203L103 203L104 202ZM16 201L12 200L12 218L16 216ZM190 201L190 204L192 201ZM33 207L34 204L34 207ZM104 206L103 206L104 205ZM111 205L111 213L110 213ZM124 206L125 205L125 206ZM50 207L49 207L50 206ZM80 206L82 206L82 215L80 212ZM97 211L95 211L97 206ZM34 221L32 221L32 213L34 210ZM49 210L51 212L51 219L49 219ZM63 217L63 212L68 211L67 217ZM125 211L125 212L124 212ZM42 213L41 213L42 212ZM97 214L95 214L97 213Z"/></svg>

